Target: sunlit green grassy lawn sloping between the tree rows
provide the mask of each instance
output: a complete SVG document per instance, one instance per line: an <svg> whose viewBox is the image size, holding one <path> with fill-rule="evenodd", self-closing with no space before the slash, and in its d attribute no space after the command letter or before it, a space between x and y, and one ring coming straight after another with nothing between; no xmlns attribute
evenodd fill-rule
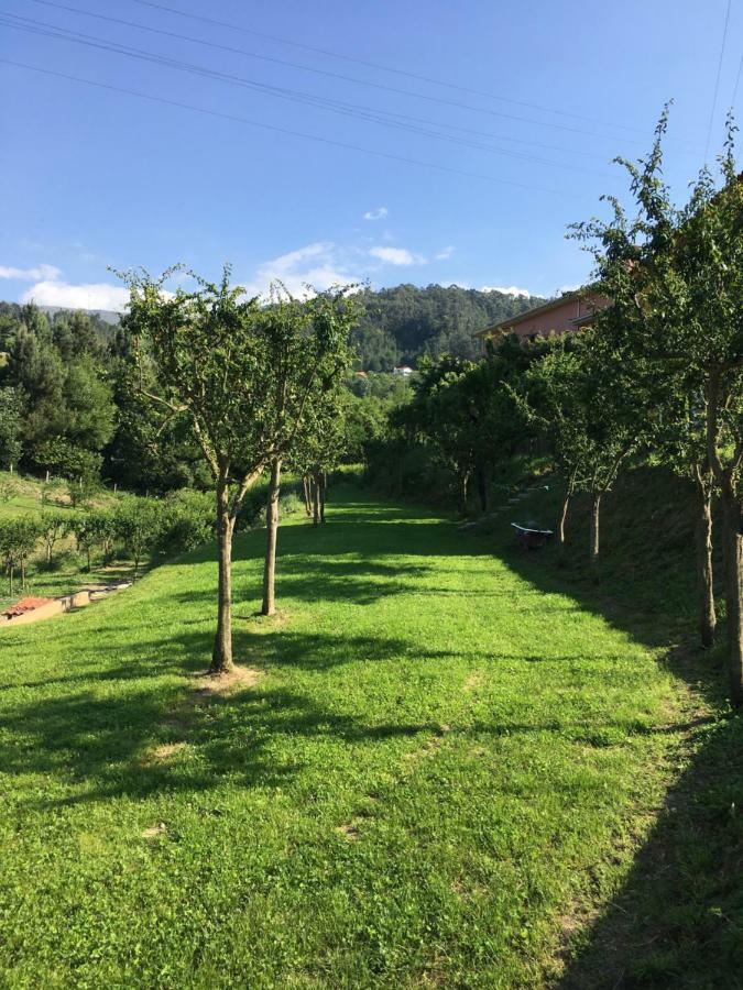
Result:
<svg viewBox="0 0 743 990"><path fill-rule="evenodd" d="M210 548L0 634L0 985L544 986L631 883L692 704L659 641L507 534L334 499L273 619L238 537L252 685L196 678Z"/></svg>

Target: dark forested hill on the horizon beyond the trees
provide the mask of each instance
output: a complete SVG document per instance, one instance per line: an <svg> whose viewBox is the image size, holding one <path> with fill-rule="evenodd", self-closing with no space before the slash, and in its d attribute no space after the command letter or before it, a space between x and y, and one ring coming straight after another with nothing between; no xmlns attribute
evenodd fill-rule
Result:
<svg viewBox="0 0 743 990"><path fill-rule="evenodd" d="M415 365L423 354L436 358L447 351L457 358L473 359L480 354L479 342L472 339L477 330L544 301L536 296L483 293L454 285L365 289L364 316L353 332L353 343L364 371L391 371L396 364ZM55 320L69 319L69 315L45 308ZM0 321L3 317L18 319L19 315L20 307L0 302ZM116 314L91 312L88 316L97 333L106 341L110 340Z"/></svg>

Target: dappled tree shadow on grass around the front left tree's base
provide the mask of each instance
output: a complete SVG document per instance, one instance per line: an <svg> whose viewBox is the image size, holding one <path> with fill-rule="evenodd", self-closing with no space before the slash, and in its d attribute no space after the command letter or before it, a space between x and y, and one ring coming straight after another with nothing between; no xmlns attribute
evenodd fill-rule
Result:
<svg viewBox="0 0 743 990"><path fill-rule="evenodd" d="M238 652L253 638L281 644L271 649L272 663L294 662L308 670L340 662L340 651L343 662L353 662L381 661L408 649L394 638L369 641L283 632L269 638L243 632L236 637ZM209 631L185 634L177 654L187 653L193 658L189 667L203 671L210 645ZM167 648L166 642L160 646ZM105 653L99 654L101 659L106 661ZM40 795L34 787L29 804L48 807L117 795L199 792L218 788L226 779L245 788L285 785L302 765L276 763L273 743L282 735L373 745L436 729L425 722L365 722L326 710L304 694L282 688L262 690L260 681L251 689L201 698L198 682L184 683L183 668L179 680L153 684L153 679L162 678L162 659L161 653L159 663L142 660L106 667L80 679L86 690L75 691L66 679L57 679L56 684L67 688L62 695L48 696L54 681L32 684L12 712L0 714L3 771L11 777L55 774L62 781L57 784L62 796ZM176 672L176 667L168 664L166 670ZM159 748L183 744L188 759L156 757Z"/></svg>

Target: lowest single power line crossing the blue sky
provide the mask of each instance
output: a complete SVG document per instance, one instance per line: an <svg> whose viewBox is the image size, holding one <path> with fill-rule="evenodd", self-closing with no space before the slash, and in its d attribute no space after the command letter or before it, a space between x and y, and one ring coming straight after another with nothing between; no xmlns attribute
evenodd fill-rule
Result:
<svg viewBox="0 0 743 990"><path fill-rule="evenodd" d="M120 87L120 86L111 86L108 82L99 82L95 79L85 79L81 76L73 76L67 73L59 73L54 69L42 68L41 66L29 65L28 63L23 63L23 62L14 62L11 58L0 58L0 63L2 63L4 65L12 65L12 66L15 66L17 68L29 69L30 72L34 72L34 73L41 73L46 76L55 76L56 78L59 78L59 79L69 79L73 82L81 82L81 84L85 84L86 86L95 86L98 89L106 89L111 92L120 92L120 94L123 94L124 96L133 96L133 97L138 97L139 99L150 100L155 103L163 103L167 107L177 107L181 110L190 110L196 113L206 114L208 117L220 118L221 120L228 120L233 123L248 124L249 127L252 127L252 128L261 128L262 130L265 130L265 131L273 131L278 134L287 134L292 138L302 138L307 141L316 141L320 144L329 144L332 147L341 147L341 148L345 148L346 151L361 152L362 154L367 154L367 155L374 155L374 156L381 157L381 158L389 158L393 162L403 162L406 165L417 165L417 166L423 166L424 168L434 168L437 172L446 172L451 175L463 176L465 178L477 178L477 179L483 179L483 180L490 182L490 183L498 183L499 185L514 186L518 189L527 189L529 193L547 193L550 196L562 196L566 198L572 198L572 197L570 197L569 194L566 194L564 190L560 190L560 189L549 189L544 186L534 186L534 185L531 185L527 183L518 183L518 182L513 182L511 179L502 179L502 178L498 178L494 175L483 175L482 173L478 173L478 172L465 172L461 168L452 168L449 165L440 165L438 163L426 162L420 158L407 158L407 157L404 157L403 155L395 155L392 152L383 152L383 151L379 151L378 148L363 147L362 145L350 144L345 141L336 141L332 138L323 138L319 134L312 134L312 133L307 133L304 131L294 131L294 130L289 130L288 128L278 127L277 124L267 124L267 123L264 123L263 121L250 120L249 118L239 117L238 114L234 114L234 113L225 113L221 110L210 110L205 107L196 107L193 103L185 103L185 102L182 102L181 100L171 100L171 99L167 99L166 97L153 96L152 94L141 92L140 90L136 90L136 89L124 89L123 87Z"/></svg>

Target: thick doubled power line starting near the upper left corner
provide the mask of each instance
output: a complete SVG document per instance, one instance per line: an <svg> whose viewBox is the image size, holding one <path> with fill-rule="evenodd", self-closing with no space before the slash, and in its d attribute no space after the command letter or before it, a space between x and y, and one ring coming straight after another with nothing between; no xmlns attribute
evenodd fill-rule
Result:
<svg viewBox="0 0 743 990"><path fill-rule="evenodd" d="M19 20L24 23L17 24L14 23L14 20ZM98 38L95 35L83 34L80 32L74 32L67 29L57 28L56 25L47 24L43 21L35 21L32 18L20 18L15 14L0 14L0 23L4 23L7 26L14 28L19 31L26 31L31 34L39 34L43 37L52 37L58 41L67 41L75 44L85 45L86 47L99 48L106 52L113 52L114 54L123 55L124 57L136 58L139 61L149 62L155 65L162 65L166 68L174 68L177 72L185 72L206 78L212 78L217 81L245 87L264 95L318 107L334 113L340 113L346 117L351 117L356 120L379 123L383 127L404 130L411 133L420 134L423 136L433 138L435 140L446 141L451 144L458 144L462 147L471 147L477 151L484 151L491 154L505 155L509 157L517 158L520 161L547 165L549 167L568 168L572 170L584 172L591 175L604 174L597 173L587 168L581 168L580 166L569 165L564 162L554 162L546 158L539 158L535 155L528 155L523 152L514 152L510 151L509 148L499 148L492 145L485 145L481 142L465 141L450 134L437 133L435 131L427 130L426 128L408 124L401 120L394 120L391 117L385 116L382 111L376 111L373 108L359 108L354 105L343 103L341 101L327 99L325 97L316 97L312 94L306 94L298 90L269 86L267 84L258 82L256 80L247 79L241 76L234 76L230 73L222 73L216 69L210 69L207 66L199 66L192 63L181 62L178 59L174 59L170 56L161 55L159 53L146 52L141 48L134 48L130 45L120 45L118 42L108 42L103 38ZM412 120L415 120L415 118L412 118ZM438 127L438 124L436 123L434 123L433 125Z"/></svg>

